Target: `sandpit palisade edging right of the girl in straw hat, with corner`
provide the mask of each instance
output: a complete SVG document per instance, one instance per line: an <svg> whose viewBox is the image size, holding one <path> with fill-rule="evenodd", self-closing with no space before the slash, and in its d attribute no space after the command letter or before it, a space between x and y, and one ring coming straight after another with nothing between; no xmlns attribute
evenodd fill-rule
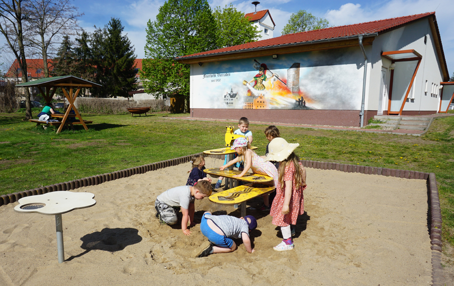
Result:
<svg viewBox="0 0 454 286"><path fill-rule="evenodd" d="M438 188L436 186L436 178L434 173L425 173L409 170L397 170L380 167L350 165L331 162L318 162L310 160L301 160L304 167L320 169L320 170L336 170L349 173L362 173L368 175L382 175L396 178L420 179L426 180L428 185L428 201L429 201L429 221L430 221L430 238L432 250L432 285L443 286L444 276L443 268L441 267L441 208L440 199L438 197Z"/></svg>

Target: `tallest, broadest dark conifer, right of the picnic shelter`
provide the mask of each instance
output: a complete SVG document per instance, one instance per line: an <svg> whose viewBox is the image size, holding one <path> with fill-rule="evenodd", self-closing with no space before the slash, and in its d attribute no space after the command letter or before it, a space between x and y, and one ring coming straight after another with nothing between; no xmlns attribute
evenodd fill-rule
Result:
<svg viewBox="0 0 454 286"><path fill-rule="evenodd" d="M95 81L102 96L126 96L136 90L134 48L120 19L112 18L103 29L97 29L91 38L92 64L96 66Z"/></svg>

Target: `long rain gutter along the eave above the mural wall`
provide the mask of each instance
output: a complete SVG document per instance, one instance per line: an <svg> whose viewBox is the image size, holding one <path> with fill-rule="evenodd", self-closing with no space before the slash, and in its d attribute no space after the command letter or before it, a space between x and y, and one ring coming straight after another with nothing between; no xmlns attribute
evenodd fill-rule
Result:
<svg viewBox="0 0 454 286"><path fill-rule="evenodd" d="M361 35L361 37L363 37L363 38L371 38L371 37L376 37L376 36L378 36L378 33ZM250 52L250 51L261 51L261 50L283 48L283 47L289 47L289 46L303 46L303 45L319 44L319 43L325 43L325 42L349 40L349 39L355 39L355 38L359 38L359 37L360 37L359 35L355 35L355 36L347 36L347 37L341 37L341 38L330 38L330 39L314 40L314 41L307 41L307 42L289 43L289 44L283 44L283 45L273 45L273 46L258 47L258 48L248 48L248 49L228 51L228 52L218 52L218 53L213 53L213 54L204 54L204 55L191 56L191 57L181 57L181 58L175 57L174 60L179 61L181 63L186 63L185 59L212 57L212 56L221 55L221 54L222 55L240 54L240 53L244 53L244 52L247 52L247 51Z"/></svg>

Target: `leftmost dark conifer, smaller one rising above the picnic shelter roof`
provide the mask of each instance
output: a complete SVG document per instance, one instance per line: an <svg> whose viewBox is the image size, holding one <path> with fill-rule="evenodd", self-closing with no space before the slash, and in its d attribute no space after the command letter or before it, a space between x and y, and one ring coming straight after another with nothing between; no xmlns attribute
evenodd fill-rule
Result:
<svg viewBox="0 0 454 286"><path fill-rule="evenodd" d="M63 36L62 44L58 48L57 57L53 62L53 76L78 76L75 74L74 51L69 36Z"/></svg>

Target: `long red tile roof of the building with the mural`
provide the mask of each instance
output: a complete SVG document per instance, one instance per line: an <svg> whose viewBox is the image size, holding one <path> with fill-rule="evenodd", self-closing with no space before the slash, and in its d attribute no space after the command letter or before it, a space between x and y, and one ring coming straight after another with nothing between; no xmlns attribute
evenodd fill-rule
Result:
<svg viewBox="0 0 454 286"><path fill-rule="evenodd" d="M262 11L260 11L262 12ZM259 12L257 12L259 13ZM248 14L247 14L248 15ZM312 41L340 39L346 37L357 37L359 35L379 35L391 31L392 29L399 28L410 22L432 16L435 17L435 12L424 13L418 15L411 15L399 18L378 20L366 23L359 23L353 25L331 27L315 31L301 32L295 34L284 35L276 38L269 38L260 41L250 42L246 44L231 46L227 48L206 51L202 53L177 57L176 59L184 59L187 57L204 57L208 55L228 53L228 52L243 52L246 50L279 47L289 44L310 43Z"/></svg>

